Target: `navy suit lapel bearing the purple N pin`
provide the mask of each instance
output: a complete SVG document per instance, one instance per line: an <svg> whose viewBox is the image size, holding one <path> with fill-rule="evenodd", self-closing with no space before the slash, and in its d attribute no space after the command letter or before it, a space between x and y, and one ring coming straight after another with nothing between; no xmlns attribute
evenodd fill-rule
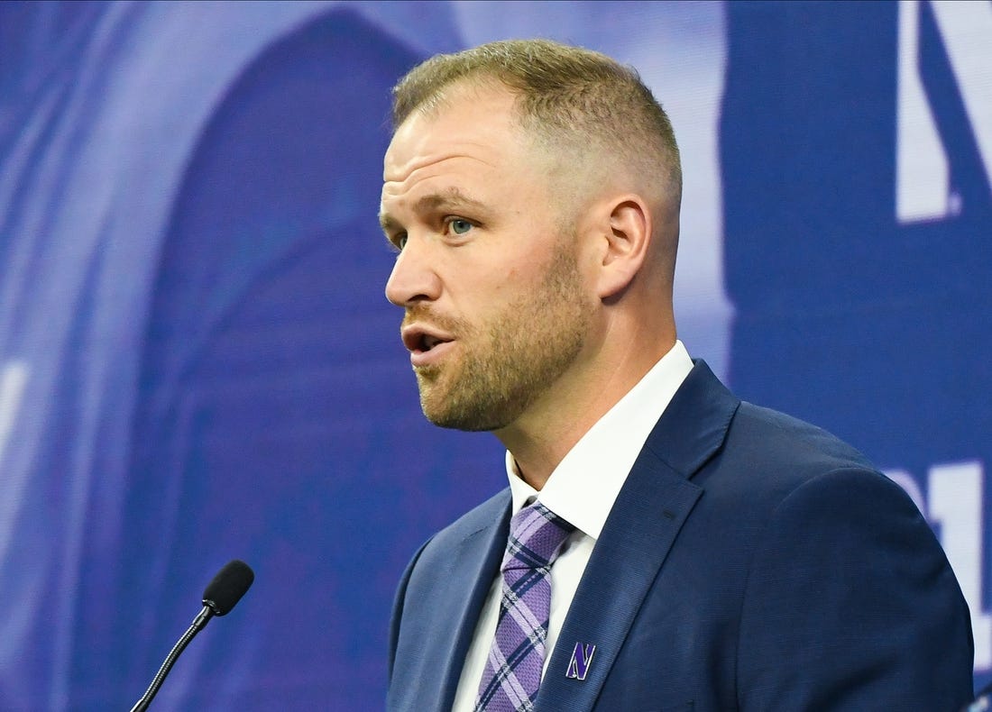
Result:
<svg viewBox="0 0 992 712"><path fill-rule="evenodd" d="M596 541L541 684L537 709L591 710L702 490L689 479L719 449L737 401L703 362L649 435ZM584 680L566 676L594 645Z"/></svg>

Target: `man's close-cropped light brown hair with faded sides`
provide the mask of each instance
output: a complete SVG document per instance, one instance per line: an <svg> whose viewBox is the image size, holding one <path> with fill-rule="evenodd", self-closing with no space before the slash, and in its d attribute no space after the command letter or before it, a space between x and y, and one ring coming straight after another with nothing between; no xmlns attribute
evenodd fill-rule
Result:
<svg viewBox="0 0 992 712"><path fill-rule="evenodd" d="M642 178L666 183L678 205L682 168L672 123L633 67L548 40L508 40L436 55L393 88L393 126L440 110L454 84L496 81L517 96L521 126L556 151L595 147Z"/></svg>

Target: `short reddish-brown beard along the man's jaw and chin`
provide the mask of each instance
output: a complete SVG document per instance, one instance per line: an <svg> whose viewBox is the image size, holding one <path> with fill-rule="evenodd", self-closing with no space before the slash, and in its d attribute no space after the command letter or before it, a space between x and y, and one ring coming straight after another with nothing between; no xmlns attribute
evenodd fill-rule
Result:
<svg viewBox="0 0 992 712"><path fill-rule="evenodd" d="M569 236L570 237L570 236ZM415 369L421 408L435 425L498 430L516 421L577 358L591 320L574 243L561 241L543 284L484 324L431 320L458 336L460 358Z"/></svg>

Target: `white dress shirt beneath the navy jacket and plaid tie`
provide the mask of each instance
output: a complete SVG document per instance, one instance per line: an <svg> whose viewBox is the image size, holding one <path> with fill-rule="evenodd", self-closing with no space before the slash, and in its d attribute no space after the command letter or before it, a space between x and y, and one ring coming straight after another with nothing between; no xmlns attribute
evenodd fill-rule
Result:
<svg viewBox="0 0 992 712"><path fill-rule="evenodd" d="M511 514L539 499L575 527L552 566L545 672L578 581L620 488L659 416L668 408L691 369L692 361L682 341L676 341L672 350L575 443L540 492L520 478L513 455L506 453L507 477L513 495ZM496 635L502 580L497 573L482 606L458 680L452 712L471 712L475 707L489 648ZM562 675L564 672L560 670Z"/></svg>

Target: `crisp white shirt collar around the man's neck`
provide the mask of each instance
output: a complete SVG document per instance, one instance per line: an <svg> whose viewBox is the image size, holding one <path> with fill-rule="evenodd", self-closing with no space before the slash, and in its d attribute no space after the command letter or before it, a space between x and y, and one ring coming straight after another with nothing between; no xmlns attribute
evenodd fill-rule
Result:
<svg viewBox="0 0 992 712"><path fill-rule="evenodd" d="M568 451L540 492L521 479L506 453L513 514L535 498L593 539L599 538L627 474L661 414L668 408L692 360L675 346Z"/></svg>

